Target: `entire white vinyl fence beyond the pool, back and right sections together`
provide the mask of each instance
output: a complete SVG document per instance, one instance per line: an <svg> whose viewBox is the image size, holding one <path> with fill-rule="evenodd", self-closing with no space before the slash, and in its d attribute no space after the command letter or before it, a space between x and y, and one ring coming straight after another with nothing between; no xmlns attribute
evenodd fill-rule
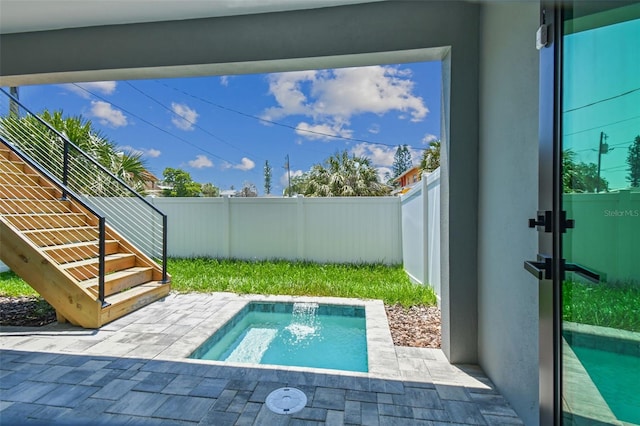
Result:
<svg viewBox="0 0 640 426"><path fill-rule="evenodd" d="M167 215L170 257L404 264L440 296L439 171L402 198L147 199ZM126 218L126 198L108 201Z"/></svg>

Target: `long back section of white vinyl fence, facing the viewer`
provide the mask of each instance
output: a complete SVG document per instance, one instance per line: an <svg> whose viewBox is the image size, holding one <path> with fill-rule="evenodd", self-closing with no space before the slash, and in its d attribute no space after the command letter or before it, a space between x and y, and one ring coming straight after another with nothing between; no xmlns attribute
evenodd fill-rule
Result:
<svg viewBox="0 0 640 426"><path fill-rule="evenodd" d="M171 257L402 263L396 197L150 201L168 217Z"/></svg>

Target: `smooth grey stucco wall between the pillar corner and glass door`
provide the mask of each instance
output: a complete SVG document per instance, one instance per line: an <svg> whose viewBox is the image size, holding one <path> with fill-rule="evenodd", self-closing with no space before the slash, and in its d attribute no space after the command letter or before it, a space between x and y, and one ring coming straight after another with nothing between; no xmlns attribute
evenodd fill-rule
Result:
<svg viewBox="0 0 640 426"><path fill-rule="evenodd" d="M538 5L483 5L480 65L478 352L527 425L538 422Z"/></svg>

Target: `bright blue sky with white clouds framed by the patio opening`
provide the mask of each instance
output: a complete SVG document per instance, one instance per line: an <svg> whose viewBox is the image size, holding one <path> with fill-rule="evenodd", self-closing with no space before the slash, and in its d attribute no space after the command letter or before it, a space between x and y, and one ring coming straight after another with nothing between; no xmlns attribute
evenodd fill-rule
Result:
<svg viewBox="0 0 640 426"><path fill-rule="evenodd" d="M384 175L399 144L414 163L440 138L440 62L278 74L24 86L33 112L82 115L117 145L141 152L159 178L180 168L196 182L272 194L344 149ZM338 136L338 137L335 137Z"/></svg>

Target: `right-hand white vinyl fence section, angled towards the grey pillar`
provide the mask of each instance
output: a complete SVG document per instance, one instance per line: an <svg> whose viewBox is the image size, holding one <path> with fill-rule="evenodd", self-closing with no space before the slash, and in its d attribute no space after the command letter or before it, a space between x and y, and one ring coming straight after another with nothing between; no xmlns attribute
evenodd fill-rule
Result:
<svg viewBox="0 0 640 426"><path fill-rule="evenodd" d="M440 303L440 169L423 175L401 202L404 269L430 285Z"/></svg>

